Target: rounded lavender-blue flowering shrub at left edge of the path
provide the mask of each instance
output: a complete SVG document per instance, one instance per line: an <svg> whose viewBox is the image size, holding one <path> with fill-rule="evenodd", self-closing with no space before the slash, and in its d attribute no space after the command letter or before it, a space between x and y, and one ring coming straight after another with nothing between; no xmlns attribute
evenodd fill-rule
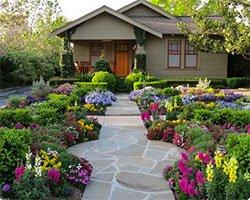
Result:
<svg viewBox="0 0 250 200"><path fill-rule="evenodd" d="M85 103L102 106L110 106L116 100L115 95L110 91L95 91L85 97Z"/></svg>

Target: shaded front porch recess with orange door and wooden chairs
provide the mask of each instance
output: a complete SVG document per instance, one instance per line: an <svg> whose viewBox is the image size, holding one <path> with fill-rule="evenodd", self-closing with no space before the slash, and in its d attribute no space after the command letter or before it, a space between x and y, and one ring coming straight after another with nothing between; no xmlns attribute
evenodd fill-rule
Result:
<svg viewBox="0 0 250 200"><path fill-rule="evenodd" d="M127 76L134 63L135 40L74 40L74 61L78 73L93 71L94 64L104 55L114 74Z"/></svg>

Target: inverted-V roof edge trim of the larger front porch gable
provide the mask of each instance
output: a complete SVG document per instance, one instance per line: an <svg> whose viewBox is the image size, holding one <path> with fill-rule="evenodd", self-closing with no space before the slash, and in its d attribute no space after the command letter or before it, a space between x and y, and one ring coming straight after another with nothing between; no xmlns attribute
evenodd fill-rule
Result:
<svg viewBox="0 0 250 200"><path fill-rule="evenodd" d="M141 28L141 29L143 29L143 30L145 30L145 31L157 36L157 37L162 38L162 34L157 32L156 30L154 30L154 29L152 29L144 24L141 24L140 22L137 22L137 21L133 20L132 18L127 17L127 16L123 15L122 13L119 13L119 12L117 12L117 11L107 7L107 6L103 6L99 9L83 16L83 17L80 17L72 22L67 23L66 25L54 30L50 35L51 36L62 35L65 31L72 29L74 27L77 27L77 26L81 25L82 23L84 23L85 21L87 21L95 16L98 16L99 14L104 13L104 12L107 12L107 13L129 23L129 24L132 24L133 26Z"/></svg>

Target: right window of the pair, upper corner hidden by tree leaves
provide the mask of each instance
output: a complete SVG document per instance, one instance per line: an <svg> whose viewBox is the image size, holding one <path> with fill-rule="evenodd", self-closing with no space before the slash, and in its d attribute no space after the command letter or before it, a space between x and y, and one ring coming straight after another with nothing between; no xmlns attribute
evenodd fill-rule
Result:
<svg viewBox="0 0 250 200"><path fill-rule="evenodd" d="M198 54L197 51L190 45L188 41L185 41L185 67L197 68Z"/></svg>

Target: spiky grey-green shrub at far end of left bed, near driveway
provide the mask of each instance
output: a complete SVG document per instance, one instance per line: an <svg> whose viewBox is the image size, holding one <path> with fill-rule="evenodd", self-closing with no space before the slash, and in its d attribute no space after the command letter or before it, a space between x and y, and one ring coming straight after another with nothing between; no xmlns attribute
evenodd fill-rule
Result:
<svg viewBox="0 0 250 200"><path fill-rule="evenodd" d="M39 81L33 81L32 83L31 92L34 96L46 97L51 90L49 82L46 83L42 77L40 77Z"/></svg>

